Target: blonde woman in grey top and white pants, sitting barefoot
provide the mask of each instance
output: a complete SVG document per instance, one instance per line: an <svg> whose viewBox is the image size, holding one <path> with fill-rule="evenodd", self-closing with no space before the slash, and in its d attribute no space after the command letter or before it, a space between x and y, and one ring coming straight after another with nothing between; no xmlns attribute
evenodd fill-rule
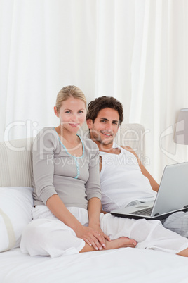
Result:
<svg viewBox="0 0 188 283"><path fill-rule="evenodd" d="M187 256L188 240L159 221L100 213L98 146L77 134L86 118L83 92L62 88L54 111L60 125L44 128L34 141L33 220L22 234L21 251L56 257L137 245Z"/></svg>

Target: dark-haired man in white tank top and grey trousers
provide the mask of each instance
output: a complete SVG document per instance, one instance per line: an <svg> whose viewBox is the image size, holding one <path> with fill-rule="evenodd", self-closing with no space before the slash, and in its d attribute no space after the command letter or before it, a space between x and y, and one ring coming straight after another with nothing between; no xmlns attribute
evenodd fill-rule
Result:
<svg viewBox="0 0 188 283"><path fill-rule="evenodd" d="M86 116L90 138L100 150L102 210L131 206L156 197L159 184L129 146L114 144L123 121L123 107L111 96L102 96L88 105ZM163 226L188 237L188 213L177 212L163 220Z"/></svg>

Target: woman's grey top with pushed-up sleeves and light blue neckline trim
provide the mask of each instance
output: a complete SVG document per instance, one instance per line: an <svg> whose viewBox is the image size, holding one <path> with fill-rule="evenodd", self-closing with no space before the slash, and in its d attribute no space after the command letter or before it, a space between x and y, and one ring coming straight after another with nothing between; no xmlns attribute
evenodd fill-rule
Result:
<svg viewBox="0 0 188 283"><path fill-rule="evenodd" d="M89 199L101 199L98 146L88 138L81 142L83 154L75 157L53 127L37 134L32 150L35 206L46 204L53 194L58 194L67 207L85 209Z"/></svg>

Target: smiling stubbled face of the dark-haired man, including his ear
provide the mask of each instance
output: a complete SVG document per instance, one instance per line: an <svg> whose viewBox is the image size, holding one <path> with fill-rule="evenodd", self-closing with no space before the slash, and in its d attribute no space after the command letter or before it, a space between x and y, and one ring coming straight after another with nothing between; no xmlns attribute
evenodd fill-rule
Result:
<svg viewBox="0 0 188 283"><path fill-rule="evenodd" d="M105 108L99 111L98 117L93 122L87 120L90 129L90 138L98 144L112 144L119 129L119 113L112 108Z"/></svg>

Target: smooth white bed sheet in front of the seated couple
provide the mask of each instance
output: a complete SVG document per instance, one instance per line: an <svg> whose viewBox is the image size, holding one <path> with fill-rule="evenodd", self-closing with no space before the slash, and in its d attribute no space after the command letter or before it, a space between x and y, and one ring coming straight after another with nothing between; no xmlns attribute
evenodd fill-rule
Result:
<svg viewBox="0 0 188 283"><path fill-rule="evenodd" d="M60 258L0 253L1 283L187 283L188 258L161 251L115 249Z"/></svg>

